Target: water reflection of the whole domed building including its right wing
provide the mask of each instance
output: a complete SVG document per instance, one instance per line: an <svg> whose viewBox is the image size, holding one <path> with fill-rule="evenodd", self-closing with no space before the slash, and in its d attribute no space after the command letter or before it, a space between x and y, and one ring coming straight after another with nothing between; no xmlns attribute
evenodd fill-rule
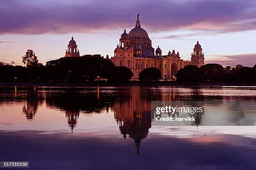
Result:
<svg viewBox="0 0 256 170"><path fill-rule="evenodd" d="M179 99L179 91L176 88L166 88L159 90L156 88L148 89L139 86L130 87L130 98L128 100L119 100L115 102L114 116L119 125L120 133L123 134L125 139L127 135L135 142L137 153L139 153L139 147L141 140L145 139L151 128L151 121L154 121L156 115L151 113L151 101L176 101L177 105L187 105L188 101L194 100L197 102L191 102L190 107L204 107L204 96L200 90L194 89L189 92L189 99ZM161 117L160 115L157 115ZM170 117L179 117L179 112L174 114L169 113ZM195 122L191 125L199 125L202 120L202 113L195 113Z"/></svg>

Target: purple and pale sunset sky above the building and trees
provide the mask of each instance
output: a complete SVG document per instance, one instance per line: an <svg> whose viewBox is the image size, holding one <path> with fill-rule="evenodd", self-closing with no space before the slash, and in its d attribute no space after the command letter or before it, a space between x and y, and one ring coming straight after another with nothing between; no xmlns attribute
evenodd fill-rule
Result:
<svg viewBox="0 0 256 170"><path fill-rule="evenodd" d="M111 57L138 13L163 55L190 60L199 40L206 63L256 64L255 0L1 0L0 61L23 65L32 49L45 64L64 57L72 35L80 55Z"/></svg>

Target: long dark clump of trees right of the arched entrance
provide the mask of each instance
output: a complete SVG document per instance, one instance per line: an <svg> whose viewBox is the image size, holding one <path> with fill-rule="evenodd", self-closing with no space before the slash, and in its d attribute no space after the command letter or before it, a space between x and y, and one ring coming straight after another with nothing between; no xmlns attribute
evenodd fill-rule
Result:
<svg viewBox="0 0 256 170"><path fill-rule="evenodd" d="M219 64L206 64L201 67L187 65L177 74L178 82L222 82L222 83L256 83L256 65L253 67L223 67Z"/></svg>

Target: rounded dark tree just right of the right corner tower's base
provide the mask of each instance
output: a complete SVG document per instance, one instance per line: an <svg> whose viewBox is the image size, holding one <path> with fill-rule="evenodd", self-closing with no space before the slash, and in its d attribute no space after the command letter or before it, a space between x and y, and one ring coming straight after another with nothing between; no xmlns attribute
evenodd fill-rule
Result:
<svg viewBox="0 0 256 170"><path fill-rule="evenodd" d="M219 64L206 64L199 68L202 82L221 82L223 80L223 66Z"/></svg>

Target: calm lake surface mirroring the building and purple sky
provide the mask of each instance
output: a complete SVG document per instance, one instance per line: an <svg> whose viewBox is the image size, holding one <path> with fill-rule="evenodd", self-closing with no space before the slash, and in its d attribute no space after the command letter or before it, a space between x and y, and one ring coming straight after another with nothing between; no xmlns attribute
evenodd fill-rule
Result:
<svg viewBox="0 0 256 170"><path fill-rule="evenodd" d="M202 126L219 121L207 112L194 126L154 125L151 101L189 100L255 102L256 87L0 87L0 160L35 170L255 170L256 126Z"/></svg>

